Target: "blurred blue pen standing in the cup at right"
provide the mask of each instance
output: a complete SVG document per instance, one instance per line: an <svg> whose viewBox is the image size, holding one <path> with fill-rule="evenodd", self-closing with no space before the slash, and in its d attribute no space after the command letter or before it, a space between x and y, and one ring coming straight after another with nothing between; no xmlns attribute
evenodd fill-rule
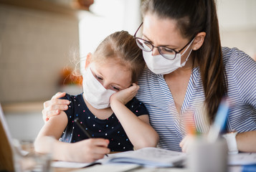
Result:
<svg viewBox="0 0 256 172"><path fill-rule="evenodd" d="M210 127L209 133L207 135L207 140L210 143L214 143L219 137L219 133L224 129L228 114L229 102L227 98L222 98L222 101L219 103L219 108L217 110L217 115L215 117L214 123Z"/></svg>

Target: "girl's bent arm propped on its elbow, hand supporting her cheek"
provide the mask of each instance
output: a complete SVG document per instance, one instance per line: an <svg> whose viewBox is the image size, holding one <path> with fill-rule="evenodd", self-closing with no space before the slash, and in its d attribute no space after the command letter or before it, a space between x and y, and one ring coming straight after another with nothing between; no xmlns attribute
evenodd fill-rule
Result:
<svg viewBox="0 0 256 172"><path fill-rule="evenodd" d="M127 100L131 100L136 95L137 91L138 85L133 84L132 87L115 92L115 94L110 97L111 109L122 124L125 133L136 149L156 147L158 134L149 124L148 115L137 117L125 106Z"/></svg>

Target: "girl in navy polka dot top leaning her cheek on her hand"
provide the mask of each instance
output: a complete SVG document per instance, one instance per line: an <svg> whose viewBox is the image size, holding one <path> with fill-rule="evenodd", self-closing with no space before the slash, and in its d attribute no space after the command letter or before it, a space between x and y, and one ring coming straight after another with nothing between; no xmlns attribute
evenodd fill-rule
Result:
<svg viewBox="0 0 256 172"><path fill-rule="evenodd" d="M110 151L155 147L158 135L149 124L145 106L134 97L144 66L141 49L128 32L110 34L94 54L87 55L84 92L65 95L68 109L44 123L35 151L47 152L44 136L53 136L53 158L60 161L92 162ZM82 133L75 118L80 118L93 138Z"/></svg>

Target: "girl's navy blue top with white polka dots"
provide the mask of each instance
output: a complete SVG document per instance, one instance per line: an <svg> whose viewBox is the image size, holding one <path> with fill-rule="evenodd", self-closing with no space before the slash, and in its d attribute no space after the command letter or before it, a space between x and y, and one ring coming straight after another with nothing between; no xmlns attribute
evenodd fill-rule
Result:
<svg viewBox="0 0 256 172"><path fill-rule="evenodd" d="M75 118L79 118L82 125L86 126L86 130L90 130L93 138L107 138L110 140L108 148L110 151L131 151L133 145L125 134L125 130L113 113L109 118L100 120L87 108L82 94L80 95L68 95L62 99L70 100L68 110L65 110L67 114L68 123L65 128L60 141L75 143L80 140L87 139L87 136L80 130L79 126L74 122ZM146 115L148 111L142 102L138 101L136 97L125 105L137 116ZM131 126L133 127L133 126Z"/></svg>

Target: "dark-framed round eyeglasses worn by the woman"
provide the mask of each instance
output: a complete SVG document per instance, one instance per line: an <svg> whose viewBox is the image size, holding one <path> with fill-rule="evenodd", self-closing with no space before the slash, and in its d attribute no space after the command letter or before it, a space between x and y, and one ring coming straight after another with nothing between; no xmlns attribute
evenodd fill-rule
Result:
<svg viewBox="0 0 256 172"><path fill-rule="evenodd" d="M143 24L143 22L141 23L141 25L142 24ZM136 37L138 30L141 28L141 25L138 27L136 33L133 36L136 39L136 43L138 44L138 47L145 52L152 52L153 48L157 48L159 54L161 54L161 56L163 56L166 59L175 59L176 54L180 53L192 41L192 39L191 39L191 41L188 42L181 50L179 50L179 52L176 52L174 49L170 49L165 46L156 47L156 46L153 46L153 44L151 44L151 42L148 42L145 39ZM171 56L170 56L170 54L171 54Z"/></svg>

